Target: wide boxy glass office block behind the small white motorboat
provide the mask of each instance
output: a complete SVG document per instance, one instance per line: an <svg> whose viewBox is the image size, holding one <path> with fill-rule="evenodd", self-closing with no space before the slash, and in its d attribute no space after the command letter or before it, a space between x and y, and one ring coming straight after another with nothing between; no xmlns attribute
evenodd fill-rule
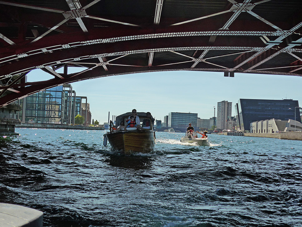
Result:
<svg viewBox="0 0 302 227"><path fill-rule="evenodd" d="M197 129L197 113L169 113L168 127L186 129L189 126L189 123L192 124L194 129Z"/></svg>

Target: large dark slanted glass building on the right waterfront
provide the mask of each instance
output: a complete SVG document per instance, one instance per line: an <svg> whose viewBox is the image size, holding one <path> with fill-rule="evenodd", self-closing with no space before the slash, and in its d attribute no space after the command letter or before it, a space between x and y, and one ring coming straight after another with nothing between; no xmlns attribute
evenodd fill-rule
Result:
<svg viewBox="0 0 302 227"><path fill-rule="evenodd" d="M297 107L297 108L295 108ZM265 100L265 99L239 99L235 105L237 130L250 131L250 123L268 119L287 121L295 119L301 122L299 102L292 99Z"/></svg>

